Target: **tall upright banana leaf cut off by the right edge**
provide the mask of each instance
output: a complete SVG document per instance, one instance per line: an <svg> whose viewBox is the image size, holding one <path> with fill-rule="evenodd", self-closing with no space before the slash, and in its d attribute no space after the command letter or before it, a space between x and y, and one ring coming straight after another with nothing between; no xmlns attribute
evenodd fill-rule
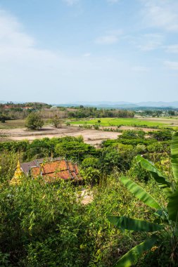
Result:
<svg viewBox="0 0 178 267"><path fill-rule="evenodd" d="M171 162L174 179L178 182L178 132L174 133L172 137L171 148Z"/></svg>

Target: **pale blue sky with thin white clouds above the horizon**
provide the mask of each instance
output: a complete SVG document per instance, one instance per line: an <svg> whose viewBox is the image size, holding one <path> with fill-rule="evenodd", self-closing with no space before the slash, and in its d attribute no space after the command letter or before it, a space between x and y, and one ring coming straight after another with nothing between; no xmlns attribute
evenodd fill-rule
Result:
<svg viewBox="0 0 178 267"><path fill-rule="evenodd" d="M178 100L177 0L0 0L0 100Z"/></svg>

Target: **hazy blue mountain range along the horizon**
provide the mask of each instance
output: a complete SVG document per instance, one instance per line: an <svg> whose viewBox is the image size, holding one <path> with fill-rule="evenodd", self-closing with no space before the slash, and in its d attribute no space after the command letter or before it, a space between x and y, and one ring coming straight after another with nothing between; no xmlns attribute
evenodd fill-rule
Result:
<svg viewBox="0 0 178 267"><path fill-rule="evenodd" d="M0 103L5 104L7 101L0 100ZM25 103L25 102L16 102L13 103ZM61 107L77 107L79 105L84 105L85 107L97 107L97 108L178 108L178 101L174 102L139 102L139 103L131 103L125 101L119 102L110 102L110 101L96 101L96 102L86 102L86 101L77 101L73 103L65 103L65 104L56 104L52 103L51 105L61 106Z"/></svg>

